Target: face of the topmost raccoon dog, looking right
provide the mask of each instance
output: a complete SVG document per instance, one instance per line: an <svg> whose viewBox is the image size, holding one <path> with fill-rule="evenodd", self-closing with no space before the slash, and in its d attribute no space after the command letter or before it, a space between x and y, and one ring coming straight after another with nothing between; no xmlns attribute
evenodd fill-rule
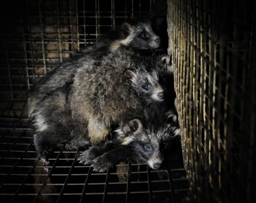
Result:
<svg viewBox="0 0 256 203"><path fill-rule="evenodd" d="M125 44L135 49L155 49L161 44L149 21L124 22L122 31L126 35Z"/></svg>

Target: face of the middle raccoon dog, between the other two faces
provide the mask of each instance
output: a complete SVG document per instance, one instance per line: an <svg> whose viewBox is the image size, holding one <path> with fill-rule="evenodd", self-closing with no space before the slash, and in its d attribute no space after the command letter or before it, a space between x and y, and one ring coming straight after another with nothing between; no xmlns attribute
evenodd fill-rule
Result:
<svg viewBox="0 0 256 203"><path fill-rule="evenodd" d="M145 68L133 68L126 69L124 75L131 81L135 92L144 102L162 102L164 100L164 90L159 84L156 71L148 72Z"/></svg>

